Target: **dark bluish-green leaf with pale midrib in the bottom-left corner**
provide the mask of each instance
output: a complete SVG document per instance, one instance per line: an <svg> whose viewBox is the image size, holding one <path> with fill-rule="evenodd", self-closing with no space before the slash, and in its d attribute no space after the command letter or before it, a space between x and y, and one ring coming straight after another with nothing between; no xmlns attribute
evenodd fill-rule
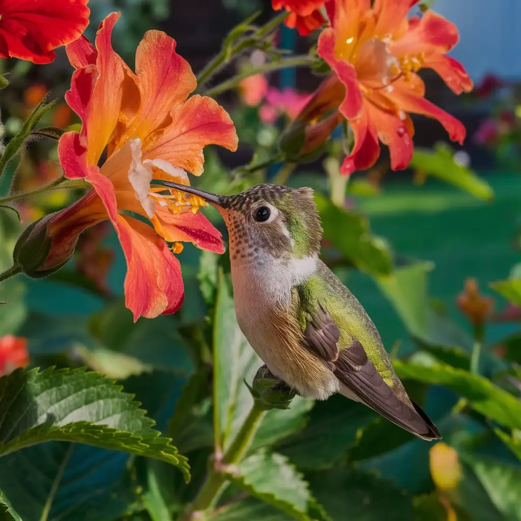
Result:
<svg viewBox="0 0 521 521"><path fill-rule="evenodd" d="M23 521L114 521L138 502L128 460L78 443L43 443L2 457L0 487Z"/></svg>

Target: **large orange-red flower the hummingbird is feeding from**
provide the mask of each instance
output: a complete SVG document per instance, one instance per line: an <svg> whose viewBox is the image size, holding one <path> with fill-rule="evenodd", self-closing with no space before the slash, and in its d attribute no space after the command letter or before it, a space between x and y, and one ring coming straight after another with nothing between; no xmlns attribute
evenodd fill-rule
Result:
<svg viewBox="0 0 521 521"><path fill-rule="evenodd" d="M92 189L46 216L31 237L45 229L50 245L38 268L45 271L66 261L81 231L110 220L127 259L126 305L137 320L173 313L182 303L179 261L165 240L224 251L220 232L197 213L204 203L180 192L151 190L152 178L188 184L185 170L195 175L203 171L203 147L214 143L235 150L237 134L214 100L199 95L187 100L195 76L165 33L145 34L132 72L110 44L118 18L112 13L100 24L96 47L82 37L66 48L76 68L66 101L83 126L79 133L62 135L58 154L65 176L84 179ZM105 149L107 160L99 168ZM175 249L180 249L177 244Z"/></svg>

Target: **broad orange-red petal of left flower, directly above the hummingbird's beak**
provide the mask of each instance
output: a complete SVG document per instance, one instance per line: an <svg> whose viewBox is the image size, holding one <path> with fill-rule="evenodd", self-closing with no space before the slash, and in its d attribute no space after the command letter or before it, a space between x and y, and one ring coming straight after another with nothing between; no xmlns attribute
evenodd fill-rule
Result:
<svg viewBox="0 0 521 521"><path fill-rule="evenodd" d="M171 112L172 123L157 141L143 145L145 159L165 159L171 165L200 176L203 148L215 144L237 150L238 138L224 108L209 97L194 95Z"/></svg>

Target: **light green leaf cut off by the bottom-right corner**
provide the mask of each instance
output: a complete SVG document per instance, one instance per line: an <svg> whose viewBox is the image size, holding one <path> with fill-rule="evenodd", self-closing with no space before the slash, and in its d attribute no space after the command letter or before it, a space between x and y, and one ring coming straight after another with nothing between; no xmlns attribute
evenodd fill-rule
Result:
<svg viewBox="0 0 521 521"><path fill-rule="evenodd" d="M504 519L521 520L521 467L475 455L465 455L463 461L472 468Z"/></svg>

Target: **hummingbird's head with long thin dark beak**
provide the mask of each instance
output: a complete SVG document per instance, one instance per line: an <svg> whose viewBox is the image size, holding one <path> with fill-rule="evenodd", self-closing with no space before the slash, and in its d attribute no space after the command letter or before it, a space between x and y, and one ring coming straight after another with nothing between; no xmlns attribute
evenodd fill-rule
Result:
<svg viewBox="0 0 521 521"><path fill-rule="evenodd" d="M217 208L230 235L230 257L303 258L320 250L322 227L311 188L259 184L237 195L216 195L168 181L169 188L202 197Z"/></svg>

